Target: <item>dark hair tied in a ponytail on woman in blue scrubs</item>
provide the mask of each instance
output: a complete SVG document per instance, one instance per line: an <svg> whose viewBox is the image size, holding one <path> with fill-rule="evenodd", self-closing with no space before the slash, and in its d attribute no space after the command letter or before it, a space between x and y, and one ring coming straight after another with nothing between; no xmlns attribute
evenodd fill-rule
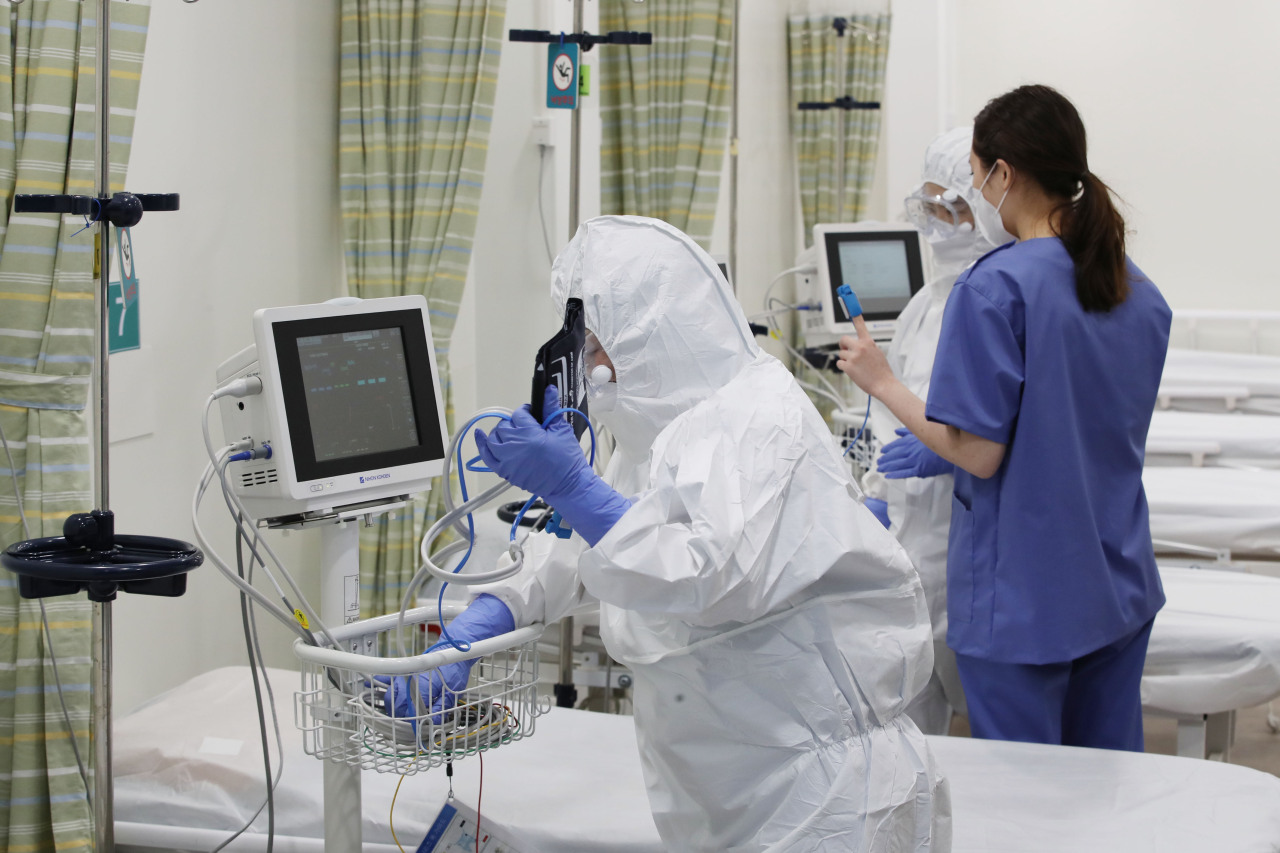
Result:
<svg viewBox="0 0 1280 853"><path fill-rule="evenodd" d="M974 119L973 151L988 169L1004 160L1060 200L1059 236L1085 311L1110 311L1125 301L1124 218L1110 187L1089 172L1084 123L1069 100L1048 86L1020 86L993 99Z"/></svg>

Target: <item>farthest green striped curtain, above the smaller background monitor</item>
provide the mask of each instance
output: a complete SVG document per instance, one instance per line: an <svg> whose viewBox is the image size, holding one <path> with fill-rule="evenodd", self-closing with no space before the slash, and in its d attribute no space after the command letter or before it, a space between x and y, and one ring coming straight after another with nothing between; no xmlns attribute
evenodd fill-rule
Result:
<svg viewBox="0 0 1280 853"><path fill-rule="evenodd" d="M881 101L888 58L890 15L847 15L850 28L837 37L832 17L787 19L791 81L791 137L795 143L804 213L805 245L823 222L858 222L876 174L879 110L800 110L801 101L833 101L845 95ZM836 50L845 51L845 79L836 79ZM836 210L836 133L845 134L845 205Z"/></svg>

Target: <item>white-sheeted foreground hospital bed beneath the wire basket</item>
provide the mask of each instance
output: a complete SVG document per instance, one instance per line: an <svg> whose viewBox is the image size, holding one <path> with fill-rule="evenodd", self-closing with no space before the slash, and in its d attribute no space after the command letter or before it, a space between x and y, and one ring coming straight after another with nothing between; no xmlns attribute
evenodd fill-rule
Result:
<svg viewBox="0 0 1280 853"><path fill-rule="evenodd" d="M321 774L292 726L296 672L273 670L284 736L280 853L320 853ZM115 724L115 839L122 853L211 850L264 793L246 667L198 676ZM954 800L955 853L1280 852L1280 780L1233 765L968 738L931 738ZM480 762L454 768L477 803ZM365 849L394 853L399 781L364 775ZM416 849L445 802L436 768L407 776L396 831ZM553 708L536 733L485 754L481 830L520 853L658 853L630 717ZM265 850L265 815L228 850Z"/></svg>

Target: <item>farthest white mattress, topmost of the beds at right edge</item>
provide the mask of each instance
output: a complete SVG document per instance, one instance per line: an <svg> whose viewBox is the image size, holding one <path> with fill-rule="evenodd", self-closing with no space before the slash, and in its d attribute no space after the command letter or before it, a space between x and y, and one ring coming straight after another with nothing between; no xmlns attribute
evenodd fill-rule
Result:
<svg viewBox="0 0 1280 853"><path fill-rule="evenodd" d="M1280 414L1280 356L1169 348L1160 378L1161 409Z"/></svg>

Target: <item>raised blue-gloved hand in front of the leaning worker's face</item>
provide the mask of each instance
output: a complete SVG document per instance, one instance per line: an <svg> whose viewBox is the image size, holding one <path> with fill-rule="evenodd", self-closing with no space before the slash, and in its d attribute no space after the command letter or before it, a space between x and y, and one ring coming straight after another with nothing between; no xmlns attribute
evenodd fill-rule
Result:
<svg viewBox="0 0 1280 853"><path fill-rule="evenodd" d="M543 411L559 409L556 386L547 388ZM626 500L591 470L563 416L543 425L529 414L529 406L498 424L485 435L477 429L480 459L512 485L541 497L556 507L568 525L594 546L631 508Z"/></svg>

